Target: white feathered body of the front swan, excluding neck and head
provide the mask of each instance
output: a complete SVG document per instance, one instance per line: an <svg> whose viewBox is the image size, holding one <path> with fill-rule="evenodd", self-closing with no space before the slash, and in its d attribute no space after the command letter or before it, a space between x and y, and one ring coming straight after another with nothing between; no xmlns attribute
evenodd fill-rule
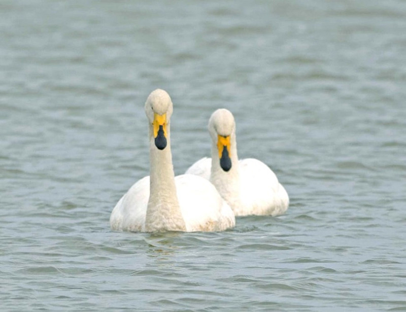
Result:
<svg viewBox="0 0 406 312"><path fill-rule="evenodd" d="M175 177L175 185L187 232L221 231L235 226L235 217L230 206L209 181L193 175L181 175ZM148 176L135 183L118 201L110 217L111 228L120 231L148 231L146 215L149 196ZM160 212L165 213L165 209L162 206ZM173 222L171 216L168 216L167 222ZM154 224L150 224L149 228L154 229Z"/></svg>

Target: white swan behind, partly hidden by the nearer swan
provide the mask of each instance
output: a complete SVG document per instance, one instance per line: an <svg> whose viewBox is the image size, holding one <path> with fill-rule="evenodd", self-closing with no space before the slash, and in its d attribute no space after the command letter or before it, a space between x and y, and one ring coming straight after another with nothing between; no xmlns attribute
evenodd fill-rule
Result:
<svg viewBox="0 0 406 312"><path fill-rule="evenodd" d="M230 111L219 109L209 120L212 158L195 162L186 174L210 180L235 216L285 213L289 196L274 172L263 162L237 155L235 121Z"/></svg>

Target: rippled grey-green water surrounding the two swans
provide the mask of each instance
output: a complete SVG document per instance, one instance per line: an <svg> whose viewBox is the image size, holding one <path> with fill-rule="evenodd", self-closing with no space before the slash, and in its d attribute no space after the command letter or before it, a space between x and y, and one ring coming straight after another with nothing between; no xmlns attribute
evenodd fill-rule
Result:
<svg viewBox="0 0 406 312"><path fill-rule="evenodd" d="M405 33L401 0L3 0L2 311L406 310ZM176 174L228 108L288 212L111 231L158 87Z"/></svg>

